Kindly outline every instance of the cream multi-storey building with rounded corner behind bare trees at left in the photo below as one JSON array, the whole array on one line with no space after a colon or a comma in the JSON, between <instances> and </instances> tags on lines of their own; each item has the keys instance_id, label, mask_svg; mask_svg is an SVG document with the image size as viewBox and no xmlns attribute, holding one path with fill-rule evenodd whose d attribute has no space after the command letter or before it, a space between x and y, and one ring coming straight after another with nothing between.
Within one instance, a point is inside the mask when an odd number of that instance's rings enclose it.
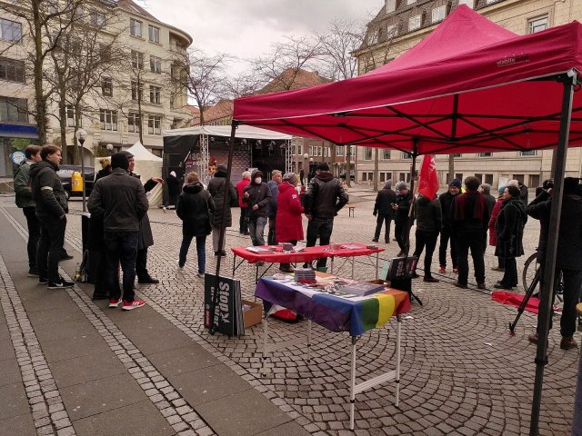
<instances>
[{"instance_id":1,"label":"cream multi-storey building with rounded corner behind bare trees at left","mask_svg":"<svg viewBox=\"0 0 582 436\"><path fill-rule=\"evenodd\" d=\"M0 0L0 7L14 3ZM53 7L58 5L55 2ZM37 144L29 61L34 45L25 20L4 12L0 17L0 176L10 176L13 153L25 144ZM63 146L71 163L78 146L75 129L83 128L87 133L85 164L93 165L95 155L103 154L107 144L114 150L128 148L140 139L141 130L146 148L161 155L162 131L182 127L191 119L186 86L172 80L176 59L185 58L191 36L162 23L131 0L81 2L75 14L79 25L98 26L97 45L103 50L113 50L109 44L115 39L122 59L101 74L100 83L86 94L76 127L75 107L66 105L65 146L60 140L58 98L49 99L47 142ZM74 44L67 38L62 41Z\"/></svg>"}]
</instances>

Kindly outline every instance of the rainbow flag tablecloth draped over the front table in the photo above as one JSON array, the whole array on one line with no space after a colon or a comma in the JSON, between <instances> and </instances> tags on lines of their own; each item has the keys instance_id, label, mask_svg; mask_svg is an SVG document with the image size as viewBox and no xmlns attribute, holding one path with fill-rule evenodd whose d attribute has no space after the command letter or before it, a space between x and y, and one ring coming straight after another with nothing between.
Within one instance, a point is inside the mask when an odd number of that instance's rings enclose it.
<instances>
[{"instance_id":1,"label":"rainbow flag tablecloth draped over the front table","mask_svg":"<svg viewBox=\"0 0 582 436\"><path fill-rule=\"evenodd\" d=\"M344 298L292 280L263 277L256 283L255 295L296 311L331 332L349 332L351 336L381 327L393 315L410 310L408 292L391 288L365 297Z\"/></svg>"}]
</instances>

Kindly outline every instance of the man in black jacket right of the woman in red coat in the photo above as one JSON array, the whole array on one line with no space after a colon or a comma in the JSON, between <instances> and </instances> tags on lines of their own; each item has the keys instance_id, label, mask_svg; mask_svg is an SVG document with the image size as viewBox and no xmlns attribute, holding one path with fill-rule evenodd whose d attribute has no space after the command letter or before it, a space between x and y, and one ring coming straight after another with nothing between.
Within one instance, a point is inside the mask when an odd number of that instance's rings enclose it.
<instances>
[{"instance_id":1,"label":"man in black jacket right of the woman in red coat","mask_svg":"<svg viewBox=\"0 0 582 436\"><path fill-rule=\"evenodd\" d=\"M339 180L329 173L327 163L319 163L316 176L309 183L304 197L307 224L307 246L316 245L319 236L320 245L328 245L334 230L334 217L349 201L346 191ZM325 268L326 259L317 260L317 268Z\"/></svg>"}]
</instances>

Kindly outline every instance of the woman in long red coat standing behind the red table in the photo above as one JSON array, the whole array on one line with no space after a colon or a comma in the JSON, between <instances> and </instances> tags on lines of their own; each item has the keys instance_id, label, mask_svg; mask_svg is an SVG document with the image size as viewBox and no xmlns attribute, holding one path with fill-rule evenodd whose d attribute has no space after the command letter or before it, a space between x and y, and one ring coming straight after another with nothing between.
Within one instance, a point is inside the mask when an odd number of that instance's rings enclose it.
<instances>
[{"instance_id":1,"label":"woman in long red coat standing behind the red table","mask_svg":"<svg viewBox=\"0 0 582 436\"><path fill-rule=\"evenodd\" d=\"M283 182L279 184L279 194L276 197L276 241L293 243L304 239L303 236L303 206L296 190L296 173L286 173ZM289 263L281 263L282 272L293 272Z\"/></svg>"}]
</instances>

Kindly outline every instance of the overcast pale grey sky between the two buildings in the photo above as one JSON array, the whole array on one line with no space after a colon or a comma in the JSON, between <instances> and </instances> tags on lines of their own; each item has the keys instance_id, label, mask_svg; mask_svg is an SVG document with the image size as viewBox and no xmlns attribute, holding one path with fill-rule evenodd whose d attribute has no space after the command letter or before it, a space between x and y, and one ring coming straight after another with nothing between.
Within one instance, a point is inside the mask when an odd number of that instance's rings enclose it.
<instances>
[{"instance_id":1,"label":"overcast pale grey sky between the two buildings","mask_svg":"<svg viewBox=\"0 0 582 436\"><path fill-rule=\"evenodd\" d=\"M324 31L335 18L369 21L384 0L135 0L185 30L208 54L258 57L286 35Z\"/></svg>"}]
</instances>

